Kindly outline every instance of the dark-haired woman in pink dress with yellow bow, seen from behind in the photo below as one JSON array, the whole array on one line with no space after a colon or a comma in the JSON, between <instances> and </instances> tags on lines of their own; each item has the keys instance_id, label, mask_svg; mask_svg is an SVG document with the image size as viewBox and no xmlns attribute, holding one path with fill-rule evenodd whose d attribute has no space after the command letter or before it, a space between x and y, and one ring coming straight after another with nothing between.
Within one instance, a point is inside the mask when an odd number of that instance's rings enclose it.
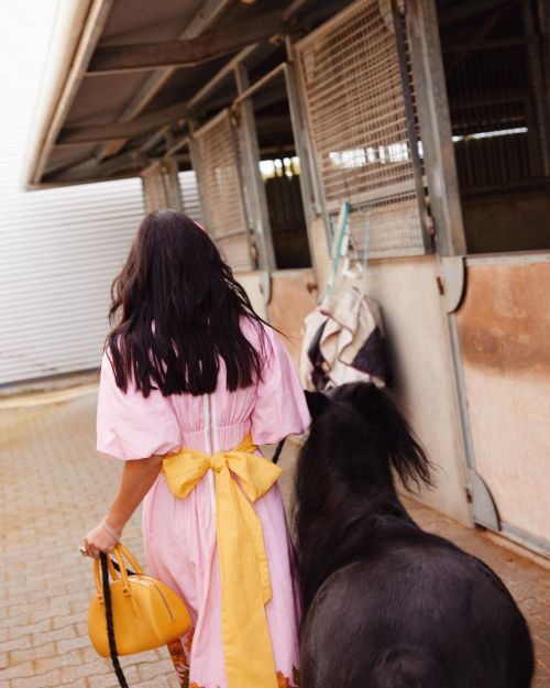
<instances>
[{"instance_id":1,"label":"dark-haired woman in pink dress with yellow bow, seen from behind","mask_svg":"<svg viewBox=\"0 0 550 688\"><path fill-rule=\"evenodd\" d=\"M112 297L119 325L101 365L97 447L125 463L86 553L112 552L144 499L151 575L182 596L194 622L184 679L294 685L298 604L278 469L250 456L309 425L292 360L206 232L178 212L145 217ZM185 489L182 469L198 471ZM246 510L255 536L239 521Z\"/></svg>"}]
</instances>

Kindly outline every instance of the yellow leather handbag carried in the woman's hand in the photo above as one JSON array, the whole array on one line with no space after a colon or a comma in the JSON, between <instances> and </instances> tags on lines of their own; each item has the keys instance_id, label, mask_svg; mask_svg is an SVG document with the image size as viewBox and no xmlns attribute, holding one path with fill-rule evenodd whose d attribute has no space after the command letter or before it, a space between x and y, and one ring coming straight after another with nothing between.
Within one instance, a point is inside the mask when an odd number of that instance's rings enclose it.
<instances>
[{"instance_id":1,"label":"yellow leather handbag carried in the woman's hand","mask_svg":"<svg viewBox=\"0 0 550 688\"><path fill-rule=\"evenodd\" d=\"M145 576L121 543L114 547L114 556L120 574L110 557L101 557L102 576L99 560L94 561L97 594L88 610L88 633L98 654L111 658L113 654L132 655L166 645L186 633L191 620L184 601L174 590ZM134 569L131 575L124 558ZM114 641L111 643L108 626Z\"/></svg>"}]
</instances>

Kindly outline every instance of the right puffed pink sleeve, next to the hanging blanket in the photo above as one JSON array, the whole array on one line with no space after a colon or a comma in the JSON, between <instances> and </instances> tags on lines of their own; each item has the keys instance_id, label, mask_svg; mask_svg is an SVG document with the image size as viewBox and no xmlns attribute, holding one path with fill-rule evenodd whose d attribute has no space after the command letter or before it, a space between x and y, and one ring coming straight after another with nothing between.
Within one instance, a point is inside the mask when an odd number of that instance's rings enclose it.
<instances>
[{"instance_id":1,"label":"right puffed pink sleeve, next to the hanging blanket","mask_svg":"<svg viewBox=\"0 0 550 688\"><path fill-rule=\"evenodd\" d=\"M278 336L265 329L265 363L256 387L252 412L252 439L255 445L278 443L288 435L301 435L311 418L290 354Z\"/></svg>"}]
</instances>

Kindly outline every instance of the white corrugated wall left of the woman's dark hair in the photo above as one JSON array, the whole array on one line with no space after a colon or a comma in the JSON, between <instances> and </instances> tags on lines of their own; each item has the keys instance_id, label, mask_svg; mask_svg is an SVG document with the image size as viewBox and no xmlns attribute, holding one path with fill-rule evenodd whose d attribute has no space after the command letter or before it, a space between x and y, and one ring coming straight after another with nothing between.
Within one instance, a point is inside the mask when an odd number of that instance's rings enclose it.
<instances>
[{"instance_id":1,"label":"white corrugated wall left of the woman's dark hair","mask_svg":"<svg viewBox=\"0 0 550 688\"><path fill-rule=\"evenodd\" d=\"M0 212L0 384L99 364L140 179L14 194Z\"/></svg>"}]
</instances>

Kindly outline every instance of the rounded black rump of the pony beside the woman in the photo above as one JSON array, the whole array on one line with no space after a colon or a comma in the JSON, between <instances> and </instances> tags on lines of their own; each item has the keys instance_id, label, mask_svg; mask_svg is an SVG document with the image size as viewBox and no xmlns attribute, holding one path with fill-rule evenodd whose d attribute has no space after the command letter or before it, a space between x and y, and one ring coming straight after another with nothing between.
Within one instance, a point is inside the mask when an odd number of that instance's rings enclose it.
<instances>
[{"instance_id":1,"label":"rounded black rump of the pony beside the woman","mask_svg":"<svg viewBox=\"0 0 550 688\"><path fill-rule=\"evenodd\" d=\"M304 688L528 688L527 624L498 577L406 528L319 589L301 634Z\"/></svg>"}]
</instances>

